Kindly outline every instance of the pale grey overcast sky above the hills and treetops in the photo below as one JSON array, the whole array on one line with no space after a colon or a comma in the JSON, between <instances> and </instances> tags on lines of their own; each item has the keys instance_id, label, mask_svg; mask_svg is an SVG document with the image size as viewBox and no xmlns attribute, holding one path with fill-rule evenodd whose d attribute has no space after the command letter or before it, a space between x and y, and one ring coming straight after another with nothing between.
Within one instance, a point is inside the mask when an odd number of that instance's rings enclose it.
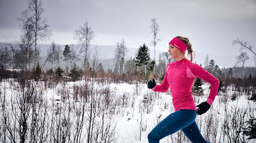
<instances>
[{"instance_id":1,"label":"pale grey overcast sky above the hills and treetops","mask_svg":"<svg viewBox=\"0 0 256 143\"><path fill-rule=\"evenodd\" d=\"M170 40L188 37L196 53L238 55L236 38L256 51L256 0L42 0L53 35L48 41L76 44L74 31L88 20L95 32L92 44L115 45L125 39L128 47L149 46L153 39L150 19L160 26L156 46L167 51ZM0 0L0 42L19 40L16 17L27 8L27 0ZM153 49L153 46L149 46ZM253 61L252 52L247 51ZM253 65L252 65L253 66Z\"/></svg>"}]
</instances>

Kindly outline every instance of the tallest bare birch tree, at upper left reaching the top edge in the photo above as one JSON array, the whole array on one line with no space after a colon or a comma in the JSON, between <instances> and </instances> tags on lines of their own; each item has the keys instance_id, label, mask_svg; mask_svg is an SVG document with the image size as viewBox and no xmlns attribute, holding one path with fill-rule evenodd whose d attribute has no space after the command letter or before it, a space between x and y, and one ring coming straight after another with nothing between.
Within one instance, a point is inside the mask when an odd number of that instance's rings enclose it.
<instances>
[{"instance_id":1,"label":"tallest bare birch tree, at upper left reaching the top edge","mask_svg":"<svg viewBox=\"0 0 256 143\"><path fill-rule=\"evenodd\" d=\"M47 19L42 18L42 14L44 12L42 5L41 0L29 0L28 8L22 12L22 16L20 18L16 18L21 27L27 25L32 32L32 37L35 41L34 67L36 67L38 60L37 42L49 39L52 34L51 30L49 30L50 26L47 24Z\"/></svg>"}]
</instances>

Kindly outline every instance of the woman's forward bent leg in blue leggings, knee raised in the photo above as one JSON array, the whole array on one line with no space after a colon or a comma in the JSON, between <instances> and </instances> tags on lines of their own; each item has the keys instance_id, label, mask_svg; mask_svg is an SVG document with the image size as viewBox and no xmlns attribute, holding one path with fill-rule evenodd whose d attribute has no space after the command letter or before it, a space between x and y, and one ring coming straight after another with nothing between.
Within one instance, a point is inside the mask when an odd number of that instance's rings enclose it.
<instances>
[{"instance_id":1,"label":"woman's forward bent leg in blue leggings, knee raised","mask_svg":"<svg viewBox=\"0 0 256 143\"><path fill-rule=\"evenodd\" d=\"M149 143L159 143L164 137L192 124L195 118L196 111L187 109L181 109L168 115L148 134Z\"/></svg>"}]
</instances>

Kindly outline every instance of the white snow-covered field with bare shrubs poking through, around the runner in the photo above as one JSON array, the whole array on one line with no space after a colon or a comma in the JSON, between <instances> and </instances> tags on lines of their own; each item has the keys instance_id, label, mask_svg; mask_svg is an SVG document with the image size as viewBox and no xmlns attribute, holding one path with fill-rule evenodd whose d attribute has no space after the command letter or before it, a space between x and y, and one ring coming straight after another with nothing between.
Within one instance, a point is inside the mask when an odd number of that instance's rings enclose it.
<instances>
[{"instance_id":1,"label":"white snow-covered field with bare shrubs poking through, around the runner","mask_svg":"<svg viewBox=\"0 0 256 143\"><path fill-rule=\"evenodd\" d=\"M45 99L47 101L48 108L45 108L49 110L47 112L48 114L48 123L47 127L45 128L46 130L49 130L49 135L48 136L54 136L55 134L53 131L51 131L52 128L57 128L56 124L54 123L50 127L50 122L55 119L59 119L61 121L65 116L67 115L67 110L63 110L64 108L67 108L67 103L72 102L75 100L74 95L75 95L75 85L79 86L81 85L84 86L84 81L78 81L78 82L68 82L68 83L58 83L55 84L51 87L45 86L44 82L39 82L36 85L36 91L37 93L42 93L42 99ZM147 84L102 84L100 82L94 82L92 86L92 82L88 82L88 89L93 89L89 90L92 92L88 92L88 103L90 103L91 97L95 97L96 104L104 104L107 103L105 94L106 93L104 90L108 89L110 92L110 98L108 99L110 102L110 105L115 105L114 109L113 108L108 108L108 109L100 109L99 106L95 106L95 109L97 108L95 114L95 127L93 134L97 133L99 129L105 129L107 127L101 127L99 126L100 124L104 123L112 123L111 126L115 126L114 128L114 138L117 143L147 143L147 135L148 133L161 121L163 120L166 116L174 112L173 109L173 104L172 104L172 96L169 91L166 93L159 93L159 92L154 92L150 89L147 88ZM93 88L92 88L93 87ZM0 85L1 88L1 103L3 101L3 95L5 95L5 101L12 110L13 107L10 105L14 103L11 101L11 99L15 99L16 92L23 92L21 88L19 88L18 83L11 83L10 82L2 82ZM204 83L202 88L204 89L204 95L205 96L194 96L194 100L196 102L196 105L199 103L206 101L207 96L209 95L209 83ZM3 92L5 91L5 92ZM25 88L25 91L27 89ZM64 92L65 91L65 92ZM5 93L5 94L4 94ZM90 95L91 93L91 95ZM239 113L246 113L245 116L243 117L244 121L248 120L250 116L256 116L255 109L256 105L255 102L247 100L245 95L238 96L236 100L232 101L231 100L231 95L234 93L234 91L228 88L225 93L221 93L218 95L214 102L213 105L211 106L210 110L199 116L197 115L196 121L198 124L198 127L203 135L208 141L210 142L216 142L216 143L229 143L232 142L227 138L227 134L232 136L233 132L235 132L235 129L237 129L238 125L233 125L232 121L235 120L241 120L239 118ZM92 96L93 95L93 96ZM104 97L104 98L103 98ZM67 99L69 99L67 101ZM81 103L80 98L78 97L77 102L75 104ZM95 105L96 105L95 104ZM79 104L82 105L82 104ZM92 105L92 104L89 104ZM87 106L86 107L90 107ZM105 104L106 107L106 104ZM85 113L87 112L88 108L85 109ZM39 108L38 108L39 109ZM58 110L61 109L61 110ZM108 112L109 110L109 112ZM232 112L234 110L234 112ZM53 112L54 111L54 112ZM103 112L97 112L97 111L103 111ZM58 112L58 113L56 113ZM12 112L8 112L10 114L10 117L15 117L12 115ZM52 114L51 114L52 113ZM95 112L94 112L95 113ZM112 116L108 115L110 120L101 120L101 117L105 113L110 114L112 113ZM3 114L3 112L1 112ZM70 113L70 123L75 123L78 121L79 117L75 117L75 114ZM31 114L30 114L31 115ZM57 117L59 115L59 117ZM74 115L74 117L72 117ZM227 115L230 115L227 117ZM1 115L2 116L2 115ZM56 117L55 117L56 116ZM86 123L87 119L89 117L89 114L85 114L84 118L86 120L84 121L84 125L82 128L82 132L80 132L83 136L81 139L81 142L85 142L87 139L87 131L88 131L88 123ZM235 118L235 119L234 119ZM237 118L237 119L236 119ZM3 118L1 118L3 119ZM11 119L11 118L9 118ZM52 120L51 120L52 119ZM181 119L182 120L182 119ZM15 120L13 120L15 121ZM56 120L55 120L56 121ZM12 122L15 123L15 122ZM31 123L31 122L29 122ZM240 122L237 122L239 124ZM17 123L18 124L18 123ZM228 126L225 126L228 125ZM74 130L75 130L75 124L70 124L69 128L69 133L72 138L74 138ZM1 124L1 129L3 129L3 124ZM13 124L13 126L16 126ZM233 127L236 126L236 127ZM65 126L66 127L66 126ZM228 129L225 129L225 128ZM51 128L51 129L50 129ZM91 129L91 128L90 128ZM28 128L28 131L31 129ZM8 131L6 131L8 134ZM226 132L226 135L224 135ZM2 134L1 134L2 135ZM29 133L27 134L29 137ZM113 134L112 134L113 135ZM49 137L46 137L47 140L49 141ZM93 137L95 138L95 137ZM107 137L106 137L107 138ZM242 135L240 133L239 138L244 138L247 139L248 137ZM19 137L16 137L18 140ZM29 138L28 138L29 139ZM98 140L97 140L98 141ZM97 142L97 141L92 141L92 142ZM102 141L104 142L104 141ZM111 142L111 141L110 141ZM172 134L160 141L161 143L189 143L187 138L184 136L184 134L181 131L178 131L175 134ZM247 141L246 141L247 142ZM248 141L248 143L255 143L256 140L252 139Z\"/></svg>"}]
</instances>

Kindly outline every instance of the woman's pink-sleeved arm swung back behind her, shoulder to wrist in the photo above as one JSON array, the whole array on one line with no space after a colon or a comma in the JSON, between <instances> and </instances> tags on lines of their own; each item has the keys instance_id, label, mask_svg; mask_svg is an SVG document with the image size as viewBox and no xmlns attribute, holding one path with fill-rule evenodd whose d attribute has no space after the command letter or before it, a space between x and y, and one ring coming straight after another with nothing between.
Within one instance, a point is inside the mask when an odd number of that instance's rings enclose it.
<instances>
[{"instance_id":1,"label":"woman's pink-sleeved arm swung back behind her, shoulder to wrist","mask_svg":"<svg viewBox=\"0 0 256 143\"><path fill-rule=\"evenodd\" d=\"M197 64L194 64L193 67L191 67L191 72L195 75L195 77L199 77L202 80L211 84L210 94L209 94L206 102L209 105L212 105L212 103L217 95L218 88L220 85L219 80Z\"/></svg>"}]
</instances>

